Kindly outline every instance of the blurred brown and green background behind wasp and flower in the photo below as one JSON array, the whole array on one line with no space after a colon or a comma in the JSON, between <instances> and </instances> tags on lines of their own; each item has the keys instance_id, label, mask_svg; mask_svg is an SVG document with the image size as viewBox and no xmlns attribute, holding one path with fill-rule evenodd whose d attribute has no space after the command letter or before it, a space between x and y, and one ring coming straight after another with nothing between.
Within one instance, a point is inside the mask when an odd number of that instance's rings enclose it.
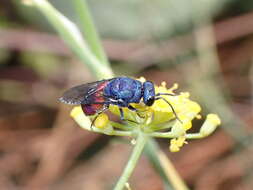
<instances>
[{"instance_id":1,"label":"blurred brown and green background behind wasp and flower","mask_svg":"<svg viewBox=\"0 0 253 190\"><path fill-rule=\"evenodd\" d=\"M50 2L79 24L70 1ZM189 2L88 1L117 75L176 82L203 115L219 113L221 128L178 153L159 141L190 189L251 190L253 1ZM57 100L92 80L35 8L1 1L0 189L112 189L130 146L80 129ZM130 183L166 189L145 156Z\"/></svg>"}]
</instances>

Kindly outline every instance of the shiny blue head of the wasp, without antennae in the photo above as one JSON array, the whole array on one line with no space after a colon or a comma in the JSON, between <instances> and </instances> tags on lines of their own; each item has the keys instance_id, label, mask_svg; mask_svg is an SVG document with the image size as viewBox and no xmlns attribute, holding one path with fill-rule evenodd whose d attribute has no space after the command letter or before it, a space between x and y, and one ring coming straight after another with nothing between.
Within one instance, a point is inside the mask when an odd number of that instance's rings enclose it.
<instances>
[{"instance_id":1,"label":"shiny blue head of the wasp, without antennae","mask_svg":"<svg viewBox=\"0 0 253 190\"><path fill-rule=\"evenodd\" d=\"M155 102L155 87L150 81L143 83L143 102L147 106L152 106Z\"/></svg>"}]
</instances>

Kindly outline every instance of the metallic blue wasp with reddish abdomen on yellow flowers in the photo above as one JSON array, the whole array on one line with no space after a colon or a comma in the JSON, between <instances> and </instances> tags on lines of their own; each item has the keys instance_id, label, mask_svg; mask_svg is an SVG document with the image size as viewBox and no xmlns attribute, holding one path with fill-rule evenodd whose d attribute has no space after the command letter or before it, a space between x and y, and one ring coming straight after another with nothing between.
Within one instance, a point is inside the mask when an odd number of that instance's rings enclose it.
<instances>
[{"instance_id":1,"label":"metallic blue wasp with reddish abdomen on yellow flowers","mask_svg":"<svg viewBox=\"0 0 253 190\"><path fill-rule=\"evenodd\" d=\"M120 111L121 120L124 119L123 109L136 111L131 103L140 103L143 100L146 106L152 106L156 100L162 99L172 109L176 119L180 122L172 105L162 95L175 96L169 93L155 93L154 84L151 81L144 83L129 78L116 77L107 80L82 84L67 90L59 99L61 102L72 105L81 105L85 115L95 115L92 124L99 114L106 111L109 105L117 105Z\"/></svg>"}]
</instances>

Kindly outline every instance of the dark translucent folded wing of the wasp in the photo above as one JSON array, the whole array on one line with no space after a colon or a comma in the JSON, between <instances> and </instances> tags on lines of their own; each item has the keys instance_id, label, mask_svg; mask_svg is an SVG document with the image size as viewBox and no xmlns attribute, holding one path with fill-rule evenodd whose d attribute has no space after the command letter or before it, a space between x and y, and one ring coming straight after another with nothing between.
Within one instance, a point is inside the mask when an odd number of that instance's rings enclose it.
<instances>
[{"instance_id":1,"label":"dark translucent folded wing of the wasp","mask_svg":"<svg viewBox=\"0 0 253 190\"><path fill-rule=\"evenodd\" d=\"M92 83L82 84L70 88L64 92L63 96L59 100L65 104L77 105L85 102L85 100L96 93L98 87L109 80L101 80Z\"/></svg>"}]
</instances>

